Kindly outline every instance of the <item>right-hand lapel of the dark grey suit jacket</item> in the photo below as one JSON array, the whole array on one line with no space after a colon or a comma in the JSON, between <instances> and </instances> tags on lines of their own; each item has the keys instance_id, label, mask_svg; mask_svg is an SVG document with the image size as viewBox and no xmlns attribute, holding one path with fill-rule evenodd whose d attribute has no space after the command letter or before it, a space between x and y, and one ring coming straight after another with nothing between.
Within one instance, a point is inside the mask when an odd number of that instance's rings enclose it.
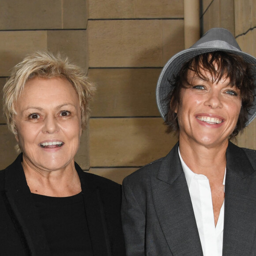
<instances>
[{"instance_id":1,"label":"right-hand lapel of the dark grey suit jacket","mask_svg":"<svg viewBox=\"0 0 256 256\"><path fill-rule=\"evenodd\" d=\"M256 233L256 174L245 152L226 151L223 256L250 255Z\"/></svg>"}]
</instances>

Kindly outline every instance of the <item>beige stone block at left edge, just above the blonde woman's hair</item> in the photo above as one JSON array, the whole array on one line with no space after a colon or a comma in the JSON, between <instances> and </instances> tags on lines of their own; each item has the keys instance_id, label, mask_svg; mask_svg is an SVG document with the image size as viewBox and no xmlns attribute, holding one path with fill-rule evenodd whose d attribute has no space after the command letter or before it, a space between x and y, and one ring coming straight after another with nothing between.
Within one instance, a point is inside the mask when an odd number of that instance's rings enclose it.
<instances>
[{"instance_id":1,"label":"beige stone block at left edge, just above the blonde woman's hair","mask_svg":"<svg viewBox=\"0 0 256 256\"><path fill-rule=\"evenodd\" d=\"M47 49L46 31L0 31L0 38L0 76L9 76L26 54Z\"/></svg>"}]
</instances>

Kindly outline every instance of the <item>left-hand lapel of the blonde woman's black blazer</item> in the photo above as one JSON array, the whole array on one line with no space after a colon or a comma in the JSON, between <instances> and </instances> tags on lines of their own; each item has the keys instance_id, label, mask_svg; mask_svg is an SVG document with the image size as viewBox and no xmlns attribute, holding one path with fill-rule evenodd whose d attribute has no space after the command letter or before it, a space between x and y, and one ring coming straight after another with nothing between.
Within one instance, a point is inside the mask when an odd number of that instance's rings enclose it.
<instances>
[{"instance_id":1,"label":"left-hand lapel of the blonde woman's black blazer","mask_svg":"<svg viewBox=\"0 0 256 256\"><path fill-rule=\"evenodd\" d=\"M5 204L28 253L33 256L50 256L21 162L22 154L5 169Z\"/></svg>"}]
</instances>

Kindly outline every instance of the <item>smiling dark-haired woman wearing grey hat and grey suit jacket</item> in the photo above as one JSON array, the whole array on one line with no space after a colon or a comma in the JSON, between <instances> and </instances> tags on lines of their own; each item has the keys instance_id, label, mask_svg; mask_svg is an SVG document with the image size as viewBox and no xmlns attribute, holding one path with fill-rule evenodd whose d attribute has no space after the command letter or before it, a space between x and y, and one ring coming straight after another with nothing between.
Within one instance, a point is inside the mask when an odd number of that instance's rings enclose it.
<instances>
[{"instance_id":1,"label":"smiling dark-haired woman wearing grey hat and grey suit jacket","mask_svg":"<svg viewBox=\"0 0 256 256\"><path fill-rule=\"evenodd\" d=\"M124 179L128 256L256 255L256 151L230 142L256 117L255 65L215 28L163 68L158 109L179 142Z\"/></svg>"}]
</instances>

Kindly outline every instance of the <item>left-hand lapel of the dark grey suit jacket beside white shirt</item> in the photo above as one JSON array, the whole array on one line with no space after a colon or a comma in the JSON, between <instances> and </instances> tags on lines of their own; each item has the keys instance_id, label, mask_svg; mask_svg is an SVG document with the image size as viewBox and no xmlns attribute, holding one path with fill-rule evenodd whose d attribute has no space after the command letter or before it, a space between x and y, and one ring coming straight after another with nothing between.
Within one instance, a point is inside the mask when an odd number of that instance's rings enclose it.
<instances>
[{"instance_id":1,"label":"left-hand lapel of the dark grey suit jacket beside white shirt","mask_svg":"<svg viewBox=\"0 0 256 256\"><path fill-rule=\"evenodd\" d=\"M158 177L151 179L155 211L174 256L203 256L178 144L162 160Z\"/></svg>"}]
</instances>

